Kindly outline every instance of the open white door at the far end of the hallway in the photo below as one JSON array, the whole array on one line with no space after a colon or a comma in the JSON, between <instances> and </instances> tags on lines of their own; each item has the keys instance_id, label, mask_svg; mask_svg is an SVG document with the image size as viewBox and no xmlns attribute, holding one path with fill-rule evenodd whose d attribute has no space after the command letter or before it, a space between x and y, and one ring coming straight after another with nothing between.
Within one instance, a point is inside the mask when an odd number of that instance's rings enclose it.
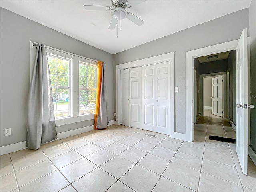
<instances>
[{"instance_id":1,"label":"open white door at the far end of the hallway","mask_svg":"<svg viewBox=\"0 0 256 192\"><path fill-rule=\"evenodd\" d=\"M222 117L222 76L212 78L212 114Z\"/></svg>"}]
</instances>

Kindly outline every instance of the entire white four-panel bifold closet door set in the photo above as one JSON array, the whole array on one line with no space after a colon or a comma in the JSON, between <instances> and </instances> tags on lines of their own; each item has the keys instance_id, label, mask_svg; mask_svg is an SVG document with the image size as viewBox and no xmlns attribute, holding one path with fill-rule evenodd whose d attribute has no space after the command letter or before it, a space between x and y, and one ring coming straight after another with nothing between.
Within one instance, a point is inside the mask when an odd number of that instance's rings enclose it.
<instances>
[{"instance_id":1,"label":"entire white four-panel bifold closet door set","mask_svg":"<svg viewBox=\"0 0 256 192\"><path fill-rule=\"evenodd\" d=\"M170 135L170 62L121 71L121 124Z\"/></svg>"}]
</instances>

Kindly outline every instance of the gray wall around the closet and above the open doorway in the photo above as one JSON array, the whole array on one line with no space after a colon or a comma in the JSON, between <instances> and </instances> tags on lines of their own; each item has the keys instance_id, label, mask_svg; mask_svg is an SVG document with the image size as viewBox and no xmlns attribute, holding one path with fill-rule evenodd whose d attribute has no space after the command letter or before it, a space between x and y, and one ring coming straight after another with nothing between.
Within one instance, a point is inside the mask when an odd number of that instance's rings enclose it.
<instances>
[{"instance_id":1,"label":"gray wall around the closet and above the open doorway","mask_svg":"<svg viewBox=\"0 0 256 192\"><path fill-rule=\"evenodd\" d=\"M166 23L168 24L168 23ZM249 10L244 9L215 20L182 30L180 32L159 38L157 40L136 46L114 55L115 65L143 58L157 56L169 52L175 54L175 128L176 132L185 133L186 124L186 55L190 50L203 48L240 38L244 28L249 28ZM116 101L116 80L114 78L114 101ZM116 103L114 102L114 112Z\"/></svg>"}]
</instances>

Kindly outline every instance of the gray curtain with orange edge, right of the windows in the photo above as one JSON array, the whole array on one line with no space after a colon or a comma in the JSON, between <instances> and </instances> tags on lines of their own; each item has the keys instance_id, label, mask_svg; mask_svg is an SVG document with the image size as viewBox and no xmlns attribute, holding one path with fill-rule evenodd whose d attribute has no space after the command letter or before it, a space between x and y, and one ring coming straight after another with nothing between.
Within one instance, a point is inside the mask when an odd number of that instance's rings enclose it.
<instances>
[{"instance_id":1,"label":"gray curtain with orange edge, right of the windows","mask_svg":"<svg viewBox=\"0 0 256 192\"><path fill-rule=\"evenodd\" d=\"M101 93L100 93L100 107L97 117L96 128L104 129L108 125L108 112L107 112L107 98L106 98L106 87L105 87L105 65L102 69L102 81L101 81Z\"/></svg>"}]
</instances>

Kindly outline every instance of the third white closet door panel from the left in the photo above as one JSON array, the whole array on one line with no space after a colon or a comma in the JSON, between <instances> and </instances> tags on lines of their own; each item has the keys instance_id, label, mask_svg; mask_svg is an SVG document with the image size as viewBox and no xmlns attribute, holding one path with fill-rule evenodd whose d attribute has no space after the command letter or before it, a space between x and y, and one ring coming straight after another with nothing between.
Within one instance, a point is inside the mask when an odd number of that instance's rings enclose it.
<instances>
[{"instance_id":1,"label":"third white closet door panel from the left","mask_svg":"<svg viewBox=\"0 0 256 192\"><path fill-rule=\"evenodd\" d=\"M155 132L156 66L142 67L142 129Z\"/></svg>"}]
</instances>

